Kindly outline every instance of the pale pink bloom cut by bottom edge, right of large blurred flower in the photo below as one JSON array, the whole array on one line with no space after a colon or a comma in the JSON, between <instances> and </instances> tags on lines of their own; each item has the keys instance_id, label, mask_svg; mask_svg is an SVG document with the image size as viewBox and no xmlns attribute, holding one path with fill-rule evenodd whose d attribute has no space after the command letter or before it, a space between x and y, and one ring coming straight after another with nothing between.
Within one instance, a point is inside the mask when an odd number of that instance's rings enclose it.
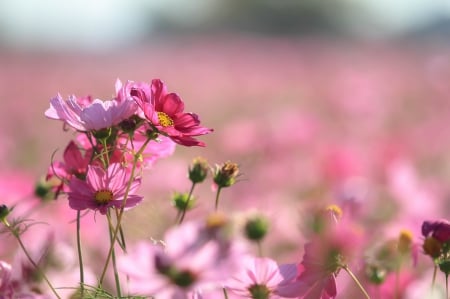
<instances>
[{"instance_id":1,"label":"pale pink bloom cut by bottom edge, right of large blurred flower","mask_svg":"<svg viewBox=\"0 0 450 299\"><path fill-rule=\"evenodd\" d=\"M285 298L279 290L289 288L297 276L297 265L278 266L269 258L248 256L241 265L240 271L225 284L227 290L240 298Z\"/></svg>"}]
</instances>

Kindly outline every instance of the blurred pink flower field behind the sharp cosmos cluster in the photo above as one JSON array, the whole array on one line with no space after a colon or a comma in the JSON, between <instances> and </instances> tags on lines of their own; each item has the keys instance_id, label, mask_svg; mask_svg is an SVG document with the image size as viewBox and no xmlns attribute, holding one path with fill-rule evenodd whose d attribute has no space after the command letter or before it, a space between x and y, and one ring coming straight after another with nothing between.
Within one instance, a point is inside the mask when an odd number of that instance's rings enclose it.
<instances>
[{"instance_id":1,"label":"blurred pink flower field behind the sharp cosmos cluster","mask_svg":"<svg viewBox=\"0 0 450 299\"><path fill-rule=\"evenodd\" d=\"M445 298L439 297L445 296L441 273L437 297L426 297L433 262L423 252L428 236L421 228L424 221L450 215L449 45L198 37L156 39L107 55L5 51L0 65L0 204L16 206L11 217L23 213L38 222L23 234L36 259L49 253L64 257L47 265L55 285L78 282L76 213L65 198L42 203L35 191L74 133L45 118L49 100L57 93L111 99L117 78L160 78L181 96L185 110L214 132L201 137L206 147L177 146L172 156L144 171L139 191L144 200L124 216L129 246L162 239L174 225L171 198L189 191L187 171L194 158L212 166L232 161L239 176L222 191L220 211L238 232L255 215L267 219L260 244L264 256L300 264L312 247L305 243L323 220L318 215L336 207L357 234L339 232L339 246L352 249L352 271L371 298ZM185 221L212 212L215 192L210 179L199 185ZM86 277L94 284L101 268L96 263L101 265L109 247L102 220L99 213L82 218L91 265ZM23 259L14 238L0 238L0 260L14 265ZM392 246L401 248L401 242L408 254L398 257ZM249 251L258 255L253 245ZM385 276L374 279L374 269ZM21 271L14 275L26 272ZM343 272L337 275L336 298L363 298ZM106 279L114 286L112 276ZM42 282L36 285L46 290Z\"/></svg>"}]
</instances>

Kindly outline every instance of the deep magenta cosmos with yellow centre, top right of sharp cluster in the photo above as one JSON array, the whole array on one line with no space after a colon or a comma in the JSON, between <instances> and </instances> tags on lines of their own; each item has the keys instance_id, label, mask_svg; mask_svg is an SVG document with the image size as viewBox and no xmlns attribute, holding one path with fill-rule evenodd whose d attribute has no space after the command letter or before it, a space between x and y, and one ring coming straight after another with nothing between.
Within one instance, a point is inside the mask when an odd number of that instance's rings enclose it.
<instances>
[{"instance_id":1,"label":"deep magenta cosmos with yellow centre, top right of sharp cluster","mask_svg":"<svg viewBox=\"0 0 450 299\"><path fill-rule=\"evenodd\" d=\"M184 102L176 93L168 93L166 85L159 79L154 79L151 86L142 83L129 82L130 90L145 118L162 134L185 146L205 146L195 136L205 135L212 129L202 127L195 113L184 112Z\"/></svg>"}]
</instances>

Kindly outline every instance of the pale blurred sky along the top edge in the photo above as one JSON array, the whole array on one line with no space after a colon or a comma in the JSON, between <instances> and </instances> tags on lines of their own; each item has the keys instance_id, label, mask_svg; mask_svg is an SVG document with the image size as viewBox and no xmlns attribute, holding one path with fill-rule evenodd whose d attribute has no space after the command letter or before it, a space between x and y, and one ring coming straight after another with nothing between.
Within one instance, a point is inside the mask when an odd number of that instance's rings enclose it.
<instances>
[{"instance_id":1,"label":"pale blurred sky along the top edge","mask_svg":"<svg viewBox=\"0 0 450 299\"><path fill-rule=\"evenodd\" d=\"M109 49L151 34L159 13L189 23L225 0L3 0L3 46L44 49ZM274 0L276 1L276 0ZM450 16L447 0L341 0L363 6L348 20L350 31L377 37L401 33Z\"/></svg>"}]
</instances>

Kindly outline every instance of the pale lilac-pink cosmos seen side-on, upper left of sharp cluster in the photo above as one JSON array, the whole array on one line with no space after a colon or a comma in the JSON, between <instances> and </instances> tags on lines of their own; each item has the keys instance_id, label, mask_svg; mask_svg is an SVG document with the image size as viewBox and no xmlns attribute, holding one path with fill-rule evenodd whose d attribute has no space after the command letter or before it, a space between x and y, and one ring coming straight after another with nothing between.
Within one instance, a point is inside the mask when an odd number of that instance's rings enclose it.
<instances>
[{"instance_id":1,"label":"pale lilac-pink cosmos seen side-on, upper left of sharp cluster","mask_svg":"<svg viewBox=\"0 0 450 299\"><path fill-rule=\"evenodd\" d=\"M117 125L135 114L136 110L137 105L132 99L95 99L91 103L80 103L75 96L64 100L58 94L50 100L50 108L45 111L45 116L62 120L78 131L92 131Z\"/></svg>"}]
</instances>

